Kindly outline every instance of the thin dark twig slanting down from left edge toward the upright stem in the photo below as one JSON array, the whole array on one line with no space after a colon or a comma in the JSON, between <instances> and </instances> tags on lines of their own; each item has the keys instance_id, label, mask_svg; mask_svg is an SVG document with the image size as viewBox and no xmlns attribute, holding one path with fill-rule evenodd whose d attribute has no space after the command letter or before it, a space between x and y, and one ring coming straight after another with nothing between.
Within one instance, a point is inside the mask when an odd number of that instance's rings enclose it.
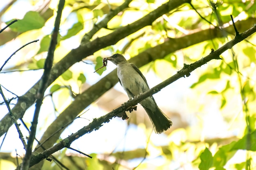
<instances>
[{"instance_id":1,"label":"thin dark twig slanting down from left edge toward the upright stem","mask_svg":"<svg viewBox=\"0 0 256 170\"><path fill-rule=\"evenodd\" d=\"M3 91L2 91L1 85L0 85L0 94L2 95L2 98L4 99L5 105L7 106L7 109L8 109L8 111L9 111L9 116L11 117L11 119L13 120L13 122L14 122L14 124L15 124L15 126L16 126L16 129L17 129L17 131L18 131L18 133L19 133L19 137L20 137L20 140L21 140L21 142L22 142L22 144L23 144L23 146L24 146L24 149L26 149L26 148L27 148L27 144L26 144L25 139L24 139L24 137L23 137L23 135L22 135L22 133L21 133L21 131L20 131L20 125L19 125L18 122L16 121L16 118L14 117L14 115L13 115L13 113L12 113L12 111L11 111L10 105L9 105L9 103L10 103L11 101L7 101L7 100L6 100L6 98L5 98L5 96L4 96L4 93L3 93Z\"/></svg>"}]
</instances>

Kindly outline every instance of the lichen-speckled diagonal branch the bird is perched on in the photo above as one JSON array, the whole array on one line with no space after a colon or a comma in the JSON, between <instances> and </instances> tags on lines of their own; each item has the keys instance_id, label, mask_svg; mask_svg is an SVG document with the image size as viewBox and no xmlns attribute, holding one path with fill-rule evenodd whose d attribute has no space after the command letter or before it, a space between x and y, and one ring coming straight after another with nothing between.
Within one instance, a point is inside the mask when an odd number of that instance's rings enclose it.
<instances>
[{"instance_id":1,"label":"lichen-speckled diagonal branch the bird is perched on","mask_svg":"<svg viewBox=\"0 0 256 170\"><path fill-rule=\"evenodd\" d=\"M43 151L42 153L33 156L33 161L31 161L30 166L33 166L34 164L40 162L41 160L47 158L49 155L55 153L58 150L61 150L62 148L69 147L74 140L78 139L82 135L86 133L90 133L92 131L98 130L101 126L103 126L103 123L109 122L112 118L115 118L120 113L123 113L126 111L129 107L136 105L137 103L141 102L141 100L144 100L145 98L152 96L153 94L159 92L162 88L166 87L167 85L173 83L177 79L185 76L189 76L190 73L195 70L196 68L204 65L205 63L211 61L212 59L220 59L219 55L222 54L225 50L228 50L229 48L232 48L235 44L238 42L244 40L245 38L249 37L253 33L256 32L256 25L254 25L249 30L245 31L244 33L236 36L234 39L229 41L227 44L222 46L216 51L211 52L206 57L203 57L199 61L196 61L195 63L192 63L190 65L184 65L184 68L177 72L177 74L173 75L172 77L168 78L166 81L156 85L152 89L149 89L147 92L141 94L138 98L134 98L128 102L126 102L125 105L121 105L121 107L111 111L110 113L106 114L105 116L101 116L100 118L94 119L88 126L83 127L76 133L73 133L69 137L63 139L58 144L52 146L51 148Z\"/></svg>"}]
</instances>

